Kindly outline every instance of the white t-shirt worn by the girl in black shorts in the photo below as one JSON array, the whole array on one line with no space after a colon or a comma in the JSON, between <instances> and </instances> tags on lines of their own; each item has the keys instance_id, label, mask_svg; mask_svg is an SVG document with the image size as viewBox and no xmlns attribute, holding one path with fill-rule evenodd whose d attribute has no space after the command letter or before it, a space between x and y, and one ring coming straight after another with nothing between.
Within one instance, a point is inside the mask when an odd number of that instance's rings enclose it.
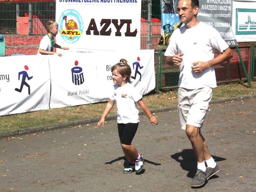
<instances>
[{"instance_id":1,"label":"white t-shirt worn by the girl in black shorts","mask_svg":"<svg viewBox=\"0 0 256 192\"><path fill-rule=\"evenodd\" d=\"M117 122L118 123L138 123L137 101L142 98L142 95L130 83L124 86L113 86L110 100L114 100L117 105Z\"/></svg>"}]
</instances>

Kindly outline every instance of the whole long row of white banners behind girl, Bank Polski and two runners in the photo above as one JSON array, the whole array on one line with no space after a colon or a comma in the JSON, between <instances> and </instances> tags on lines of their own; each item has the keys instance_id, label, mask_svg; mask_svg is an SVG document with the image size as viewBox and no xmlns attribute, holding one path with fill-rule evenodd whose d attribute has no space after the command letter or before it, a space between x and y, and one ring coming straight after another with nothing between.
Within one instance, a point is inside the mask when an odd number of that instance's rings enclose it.
<instances>
[{"instance_id":1,"label":"whole long row of white banners behind girl, Bank Polski and two runners","mask_svg":"<svg viewBox=\"0 0 256 192\"><path fill-rule=\"evenodd\" d=\"M142 95L155 89L154 50L0 57L0 116L106 101L121 58Z\"/></svg>"}]
</instances>

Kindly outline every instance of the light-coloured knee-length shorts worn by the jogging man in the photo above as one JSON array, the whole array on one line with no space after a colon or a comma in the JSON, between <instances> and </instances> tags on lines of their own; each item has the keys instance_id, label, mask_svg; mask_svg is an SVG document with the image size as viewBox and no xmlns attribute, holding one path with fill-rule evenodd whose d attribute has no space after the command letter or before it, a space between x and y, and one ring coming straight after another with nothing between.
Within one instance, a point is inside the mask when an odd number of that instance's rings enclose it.
<instances>
[{"instance_id":1,"label":"light-coloured knee-length shorts worn by the jogging man","mask_svg":"<svg viewBox=\"0 0 256 192\"><path fill-rule=\"evenodd\" d=\"M187 124L202 128L203 121L209 109L211 97L211 87L199 89L179 88L178 111L182 129L185 130Z\"/></svg>"}]
</instances>

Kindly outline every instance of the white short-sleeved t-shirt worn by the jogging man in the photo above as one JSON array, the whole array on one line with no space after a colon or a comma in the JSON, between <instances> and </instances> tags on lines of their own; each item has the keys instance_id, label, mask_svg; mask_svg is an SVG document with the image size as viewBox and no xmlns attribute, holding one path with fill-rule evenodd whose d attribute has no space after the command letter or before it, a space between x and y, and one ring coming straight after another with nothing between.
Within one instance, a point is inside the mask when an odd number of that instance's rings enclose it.
<instances>
[{"instance_id":1,"label":"white short-sleeved t-shirt worn by the jogging man","mask_svg":"<svg viewBox=\"0 0 256 192\"><path fill-rule=\"evenodd\" d=\"M228 47L216 29L200 22L190 29L186 29L185 26L176 29L171 36L165 56L184 53L180 65L179 87L197 89L209 86L214 88L217 86L214 67L209 67L201 73L194 73L191 68L192 63L209 61L214 58L215 50L222 53Z\"/></svg>"}]
</instances>

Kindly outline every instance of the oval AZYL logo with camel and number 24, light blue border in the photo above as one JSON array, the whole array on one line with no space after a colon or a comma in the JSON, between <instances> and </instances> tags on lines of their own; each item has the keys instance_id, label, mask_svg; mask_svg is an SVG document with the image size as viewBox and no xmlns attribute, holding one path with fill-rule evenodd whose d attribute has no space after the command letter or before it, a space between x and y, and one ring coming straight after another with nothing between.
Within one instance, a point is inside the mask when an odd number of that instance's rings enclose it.
<instances>
[{"instance_id":1,"label":"oval AZYL logo with camel and number 24, light blue border","mask_svg":"<svg viewBox=\"0 0 256 192\"><path fill-rule=\"evenodd\" d=\"M77 42L83 31L82 17L74 9L65 10L59 20L59 30L65 42Z\"/></svg>"}]
</instances>

